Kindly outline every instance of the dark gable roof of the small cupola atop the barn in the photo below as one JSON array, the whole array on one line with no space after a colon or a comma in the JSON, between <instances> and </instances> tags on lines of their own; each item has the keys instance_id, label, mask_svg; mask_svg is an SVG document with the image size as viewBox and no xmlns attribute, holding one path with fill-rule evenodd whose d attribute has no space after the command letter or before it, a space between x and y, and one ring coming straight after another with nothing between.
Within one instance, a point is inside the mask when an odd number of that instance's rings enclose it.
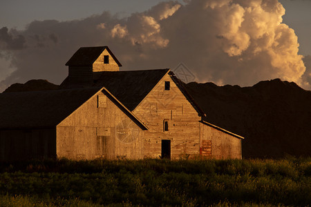
<instances>
[{"instance_id":1,"label":"dark gable roof of the small cupola atop the barn","mask_svg":"<svg viewBox=\"0 0 311 207\"><path fill-rule=\"evenodd\" d=\"M67 61L66 66L91 66L104 50L109 52L119 67L122 66L108 46L79 48Z\"/></svg>"}]
</instances>

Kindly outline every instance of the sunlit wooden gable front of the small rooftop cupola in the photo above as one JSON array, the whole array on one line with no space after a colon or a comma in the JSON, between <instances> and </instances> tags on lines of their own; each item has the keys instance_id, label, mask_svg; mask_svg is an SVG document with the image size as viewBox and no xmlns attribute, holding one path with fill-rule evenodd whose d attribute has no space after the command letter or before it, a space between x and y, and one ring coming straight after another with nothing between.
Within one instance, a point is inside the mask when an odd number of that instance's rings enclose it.
<instances>
[{"instance_id":1,"label":"sunlit wooden gable front of the small rooftop cupola","mask_svg":"<svg viewBox=\"0 0 311 207\"><path fill-rule=\"evenodd\" d=\"M109 56L109 63L104 63L104 56ZM104 50L102 54L96 59L96 61L93 63L93 72L100 72L100 71L119 71L119 66L111 57L109 52L107 50Z\"/></svg>"}]
</instances>

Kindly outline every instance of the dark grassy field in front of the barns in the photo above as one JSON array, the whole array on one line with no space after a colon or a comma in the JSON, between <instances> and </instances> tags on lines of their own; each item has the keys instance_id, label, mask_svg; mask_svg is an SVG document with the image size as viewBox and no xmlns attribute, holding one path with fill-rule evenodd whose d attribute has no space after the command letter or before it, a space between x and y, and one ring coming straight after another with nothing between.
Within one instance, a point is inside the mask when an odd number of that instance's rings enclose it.
<instances>
[{"instance_id":1,"label":"dark grassy field in front of the barns","mask_svg":"<svg viewBox=\"0 0 311 207\"><path fill-rule=\"evenodd\" d=\"M0 164L0 206L308 206L311 158Z\"/></svg>"}]
</instances>

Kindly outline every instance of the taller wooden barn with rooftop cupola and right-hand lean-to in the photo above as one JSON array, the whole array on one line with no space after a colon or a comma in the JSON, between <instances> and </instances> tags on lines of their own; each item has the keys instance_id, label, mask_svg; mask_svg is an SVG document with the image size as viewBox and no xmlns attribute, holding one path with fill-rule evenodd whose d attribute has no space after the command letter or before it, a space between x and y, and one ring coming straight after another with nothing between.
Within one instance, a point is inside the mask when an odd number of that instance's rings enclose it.
<instances>
[{"instance_id":1,"label":"taller wooden barn with rooftop cupola and right-hand lean-to","mask_svg":"<svg viewBox=\"0 0 311 207\"><path fill-rule=\"evenodd\" d=\"M79 48L61 88L105 87L144 123L144 157L241 159L243 137L206 121L170 69L120 71L108 47Z\"/></svg>"}]
</instances>

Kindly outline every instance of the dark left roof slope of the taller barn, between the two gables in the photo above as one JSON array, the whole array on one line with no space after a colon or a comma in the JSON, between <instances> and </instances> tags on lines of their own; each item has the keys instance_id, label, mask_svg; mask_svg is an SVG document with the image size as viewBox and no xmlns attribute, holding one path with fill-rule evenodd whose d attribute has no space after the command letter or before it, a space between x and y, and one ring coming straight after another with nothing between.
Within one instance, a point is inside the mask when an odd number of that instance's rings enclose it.
<instances>
[{"instance_id":1,"label":"dark left roof slope of the taller barn, between the two gables","mask_svg":"<svg viewBox=\"0 0 311 207\"><path fill-rule=\"evenodd\" d=\"M94 86L104 86L133 111L167 72L169 69L104 71Z\"/></svg>"}]
</instances>

